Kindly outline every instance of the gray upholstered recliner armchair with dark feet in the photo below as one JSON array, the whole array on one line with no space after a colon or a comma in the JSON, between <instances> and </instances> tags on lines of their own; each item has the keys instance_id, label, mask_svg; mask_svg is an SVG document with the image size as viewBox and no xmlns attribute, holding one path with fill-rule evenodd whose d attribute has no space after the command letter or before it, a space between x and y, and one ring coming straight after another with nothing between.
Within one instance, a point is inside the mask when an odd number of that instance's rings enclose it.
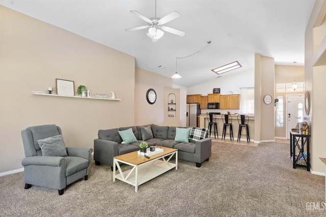
<instances>
[{"instance_id":1,"label":"gray upholstered recliner armchair with dark feet","mask_svg":"<svg viewBox=\"0 0 326 217\"><path fill-rule=\"evenodd\" d=\"M60 135L62 135L61 128L56 125L34 126L21 131L26 157L21 162L24 167L25 189L37 185L58 189L59 195L63 195L68 184L83 177L85 180L88 179L91 172L93 149L88 147L65 147ZM62 139L63 145L60 145L63 146L63 151L66 151L61 156L65 157L57 157L57 152L55 151L53 154L51 150L52 147L57 147L56 141L53 142L51 139L58 137ZM47 141L46 139L49 138L50 141ZM48 144L43 146L44 143L41 143L41 150L39 142L44 139ZM49 152L49 150L52 152Z\"/></svg>"}]
</instances>

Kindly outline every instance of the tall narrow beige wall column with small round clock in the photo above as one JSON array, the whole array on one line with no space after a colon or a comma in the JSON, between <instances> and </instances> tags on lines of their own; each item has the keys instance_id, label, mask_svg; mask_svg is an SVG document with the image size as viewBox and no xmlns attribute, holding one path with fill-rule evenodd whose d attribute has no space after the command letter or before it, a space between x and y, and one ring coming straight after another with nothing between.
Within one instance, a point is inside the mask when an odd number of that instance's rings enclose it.
<instances>
[{"instance_id":1,"label":"tall narrow beige wall column with small round clock","mask_svg":"<svg viewBox=\"0 0 326 217\"><path fill-rule=\"evenodd\" d=\"M255 142L274 141L274 58L255 54ZM273 102L266 105L263 97Z\"/></svg>"}]
</instances>

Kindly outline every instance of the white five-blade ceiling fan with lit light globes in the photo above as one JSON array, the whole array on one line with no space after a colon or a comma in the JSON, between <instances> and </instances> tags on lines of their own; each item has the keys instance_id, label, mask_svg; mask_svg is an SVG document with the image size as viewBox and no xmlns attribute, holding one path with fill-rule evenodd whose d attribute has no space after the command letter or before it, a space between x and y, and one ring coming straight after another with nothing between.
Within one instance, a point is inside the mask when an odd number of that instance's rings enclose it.
<instances>
[{"instance_id":1,"label":"white five-blade ceiling fan with lit light globes","mask_svg":"<svg viewBox=\"0 0 326 217\"><path fill-rule=\"evenodd\" d=\"M156 17L156 0L155 0L155 16L154 17L147 18L143 14L139 13L138 11L130 11L130 13L145 20L148 23L148 25L127 28L127 29L125 29L125 31L127 31L127 32L149 27L148 33L146 35L152 39L152 42L156 42L158 39L160 39L164 35L164 31L175 34L177 36L181 36L181 37L185 35L184 32L182 32L178 29L171 28L171 27L164 25L165 23L170 22L171 20L179 17L180 16L179 12L173 11L163 18Z\"/></svg>"}]
</instances>

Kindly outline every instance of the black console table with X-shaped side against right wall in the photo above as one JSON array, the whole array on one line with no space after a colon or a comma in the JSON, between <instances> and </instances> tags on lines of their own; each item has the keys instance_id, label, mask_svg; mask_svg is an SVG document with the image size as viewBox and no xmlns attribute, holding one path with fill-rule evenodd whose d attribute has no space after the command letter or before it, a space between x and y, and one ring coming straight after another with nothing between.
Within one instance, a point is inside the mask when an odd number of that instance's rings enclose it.
<instances>
[{"instance_id":1,"label":"black console table with X-shaped side against right wall","mask_svg":"<svg viewBox=\"0 0 326 217\"><path fill-rule=\"evenodd\" d=\"M300 142L301 141L301 142ZM293 169L296 166L307 167L310 171L310 135L302 135L298 132L290 131L290 157L293 164ZM307 150L307 155L304 157L304 150ZM298 153L297 155L295 153Z\"/></svg>"}]
</instances>

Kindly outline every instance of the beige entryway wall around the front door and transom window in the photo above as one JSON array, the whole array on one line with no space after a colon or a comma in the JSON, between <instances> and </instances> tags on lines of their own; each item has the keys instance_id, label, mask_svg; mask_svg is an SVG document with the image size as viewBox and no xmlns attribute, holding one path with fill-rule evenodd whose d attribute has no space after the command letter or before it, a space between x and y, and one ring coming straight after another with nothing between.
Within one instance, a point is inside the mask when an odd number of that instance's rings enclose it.
<instances>
[{"instance_id":1,"label":"beige entryway wall around the front door and transom window","mask_svg":"<svg viewBox=\"0 0 326 217\"><path fill-rule=\"evenodd\" d=\"M283 96L284 104L283 104L283 120L284 127L276 126L276 113L275 113L275 137L278 138L286 138L286 120L287 120L287 112L286 112L286 95L296 95L301 94L304 95L304 91L294 91L294 92L276 92L276 84L278 83L292 83L294 79L294 70L295 70L295 79L296 82L304 82L305 81L305 67L304 66L283 66L283 65L275 65L275 98L278 96ZM276 112L276 111L275 111Z\"/></svg>"}]
</instances>

